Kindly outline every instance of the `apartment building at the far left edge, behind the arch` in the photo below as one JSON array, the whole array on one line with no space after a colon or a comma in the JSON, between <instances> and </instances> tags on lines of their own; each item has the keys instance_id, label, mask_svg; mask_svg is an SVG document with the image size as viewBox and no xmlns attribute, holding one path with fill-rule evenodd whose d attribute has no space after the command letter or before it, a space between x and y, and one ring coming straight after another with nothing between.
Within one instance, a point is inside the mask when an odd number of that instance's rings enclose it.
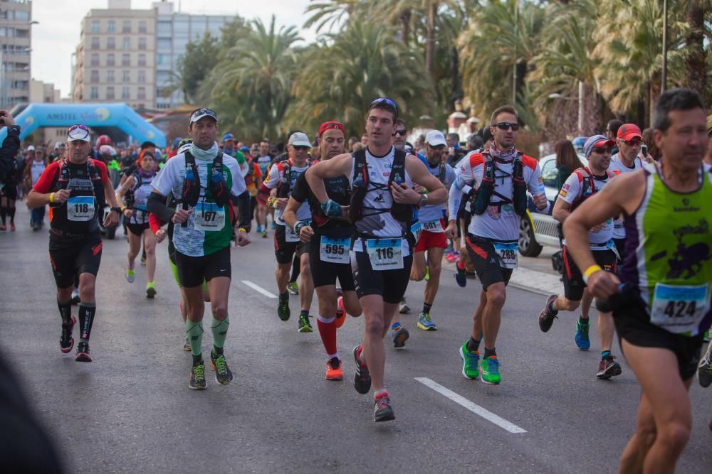
<instances>
[{"instance_id":1,"label":"apartment building at the far left edge, behind the arch","mask_svg":"<svg viewBox=\"0 0 712 474\"><path fill-rule=\"evenodd\" d=\"M30 96L32 2L0 0L0 109Z\"/></svg>"}]
</instances>

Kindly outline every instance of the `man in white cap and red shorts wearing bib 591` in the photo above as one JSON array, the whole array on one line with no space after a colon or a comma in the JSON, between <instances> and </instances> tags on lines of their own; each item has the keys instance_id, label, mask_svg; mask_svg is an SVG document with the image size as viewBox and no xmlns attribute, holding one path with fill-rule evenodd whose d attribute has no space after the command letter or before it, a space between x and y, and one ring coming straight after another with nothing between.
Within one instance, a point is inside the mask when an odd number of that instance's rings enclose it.
<instances>
[{"instance_id":1,"label":"man in white cap and red shorts wearing bib 591","mask_svg":"<svg viewBox=\"0 0 712 474\"><path fill-rule=\"evenodd\" d=\"M445 163L446 146L445 136L441 131L431 130L426 134L425 149L428 170L431 175L438 178L438 181L446 189L449 189L455 181L455 170ZM416 190L420 190L419 186L416 186ZM422 190L422 193L428 193L428 190ZM428 276L425 282L423 311L418 315L418 328L436 330L437 326L430 318L430 309L440 286L440 271L445 248L447 247L443 205L425 205L420 208L418 214L423 230L414 249L410 279L421 281ZM427 259L425 258L425 252L428 252Z\"/></svg>"}]
</instances>

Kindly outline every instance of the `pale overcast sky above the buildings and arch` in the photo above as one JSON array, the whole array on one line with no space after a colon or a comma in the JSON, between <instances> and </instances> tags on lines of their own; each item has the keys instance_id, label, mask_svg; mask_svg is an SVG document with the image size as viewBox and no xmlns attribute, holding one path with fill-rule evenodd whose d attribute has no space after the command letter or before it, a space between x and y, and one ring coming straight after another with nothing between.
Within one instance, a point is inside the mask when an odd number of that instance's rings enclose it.
<instances>
[{"instance_id":1,"label":"pale overcast sky above the buildings and arch","mask_svg":"<svg viewBox=\"0 0 712 474\"><path fill-rule=\"evenodd\" d=\"M131 0L132 9L150 9L153 0ZM278 26L301 28L307 16L309 0L175 0L173 11L189 14L234 15L246 19L260 18L268 23L274 14ZM80 23L90 9L106 9L108 0L33 0L32 77L52 82L62 97L71 92L71 55L79 43ZM300 36L313 41L313 31Z\"/></svg>"}]
</instances>

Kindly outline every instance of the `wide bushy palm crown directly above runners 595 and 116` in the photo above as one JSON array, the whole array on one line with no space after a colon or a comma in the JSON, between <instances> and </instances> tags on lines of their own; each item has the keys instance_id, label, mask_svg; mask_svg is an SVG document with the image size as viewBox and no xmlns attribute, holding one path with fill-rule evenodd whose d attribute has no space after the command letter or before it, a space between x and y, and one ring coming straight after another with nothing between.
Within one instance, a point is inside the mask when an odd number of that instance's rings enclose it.
<instances>
[{"instance_id":1,"label":"wide bushy palm crown directly above runners 595 and 116","mask_svg":"<svg viewBox=\"0 0 712 474\"><path fill-rule=\"evenodd\" d=\"M301 129L339 119L350 134L360 134L375 97L394 99L407 118L430 106L427 81L419 73L422 58L397 41L392 28L352 21L342 33L320 41L306 62L288 114Z\"/></svg>"}]
</instances>

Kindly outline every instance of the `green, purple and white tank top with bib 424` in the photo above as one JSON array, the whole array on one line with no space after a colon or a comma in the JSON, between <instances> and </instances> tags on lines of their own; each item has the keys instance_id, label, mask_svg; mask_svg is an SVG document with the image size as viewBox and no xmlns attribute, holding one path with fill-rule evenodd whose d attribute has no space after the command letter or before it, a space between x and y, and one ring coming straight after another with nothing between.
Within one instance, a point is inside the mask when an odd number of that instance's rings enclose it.
<instances>
[{"instance_id":1,"label":"green, purple and white tank top with bib 424","mask_svg":"<svg viewBox=\"0 0 712 474\"><path fill-rule=\"evenodd\" d=\"M657 169L645 173L642 203L625 221L622 279L637 287L651 323L694 336L712 321L712 174L701 168L699 188L676 193Z\"/></svg>"}]
</instances>

